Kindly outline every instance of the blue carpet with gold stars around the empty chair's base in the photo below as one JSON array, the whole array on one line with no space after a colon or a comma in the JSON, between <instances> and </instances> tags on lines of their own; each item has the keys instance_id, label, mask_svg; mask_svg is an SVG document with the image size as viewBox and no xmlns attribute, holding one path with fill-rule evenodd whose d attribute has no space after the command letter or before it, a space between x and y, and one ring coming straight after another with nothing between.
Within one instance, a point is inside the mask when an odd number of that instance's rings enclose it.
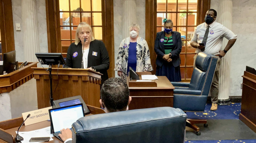
<instances>
[{"instance_id":1,"label":"blue carpet with gold stars around the empty chair's base","mask_svg":"<svg viewBox=\"0 0 256 143\"><path fill-rule=\"evenodd\" d=\"M188 118L192 119L205 119L205 120L225 120L235 119L239 120L241 112L241 103L231 103L230 105L219 106L218 110L210 111L211 104L205 106L203 113L199 112L186 112ZM196 136L196 135L195 135ZM201 135L202 136L202 135ZM199 137L199 136L198 136ZM185 143L256 143L256 140L188 140Z\"/></svg>"}]
</instances>

